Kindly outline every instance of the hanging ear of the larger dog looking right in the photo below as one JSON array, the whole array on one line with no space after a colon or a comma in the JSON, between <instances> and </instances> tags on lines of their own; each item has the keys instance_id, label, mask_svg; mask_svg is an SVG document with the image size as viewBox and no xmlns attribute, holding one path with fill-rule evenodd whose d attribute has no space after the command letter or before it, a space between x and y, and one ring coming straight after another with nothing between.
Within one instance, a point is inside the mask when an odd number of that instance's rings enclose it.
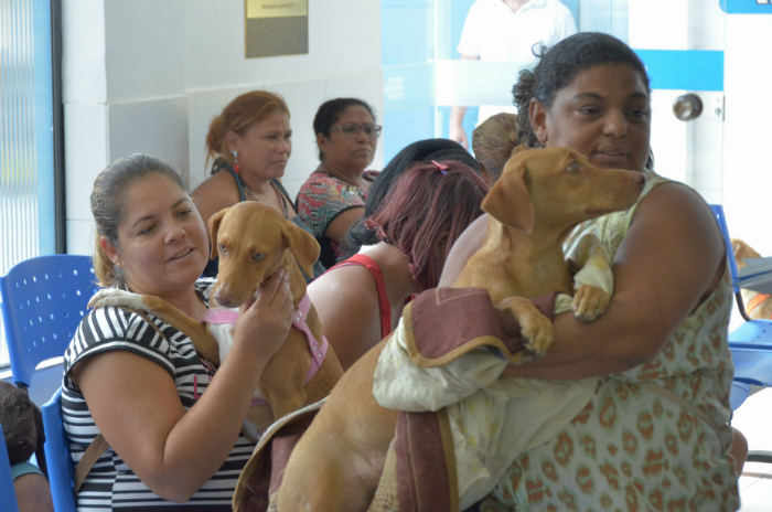
<instances>
[{"instance_id":1,"label":"hanging ear of the larger dog looking right","mask_svg":"<svg viewBox=\"0 0 772 512\"><path fill-rule=\"evenodd\" d=\"M511 158L496 184L485 195L482 209L502 224L530 233L536 225L536 214L525 184L526 173L525 159L519 156Z\"/></svg>"}]
</instances>

